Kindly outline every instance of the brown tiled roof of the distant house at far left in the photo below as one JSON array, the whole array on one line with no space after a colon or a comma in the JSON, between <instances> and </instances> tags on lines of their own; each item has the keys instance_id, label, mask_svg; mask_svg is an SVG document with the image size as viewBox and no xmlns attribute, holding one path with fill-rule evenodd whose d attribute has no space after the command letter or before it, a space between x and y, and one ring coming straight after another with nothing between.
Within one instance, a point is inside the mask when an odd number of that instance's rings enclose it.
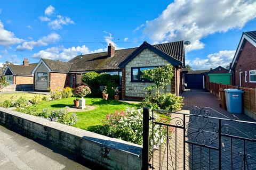
<instances>
[{"instance_id":1,"label":"brown tiled roof of the distant house at far left","mask_svg":"<svg viewBox=\"0 0 256 170\"><path fill-rule=\"evenodd\" d=\"M25 65L8 65L4 72L10 69L13 75L26 75L26 76L32 76L32 70L34 69L34 66L25 66ZM4 74L4 73L3 73Z\"/></svg>"}]
</instances>

